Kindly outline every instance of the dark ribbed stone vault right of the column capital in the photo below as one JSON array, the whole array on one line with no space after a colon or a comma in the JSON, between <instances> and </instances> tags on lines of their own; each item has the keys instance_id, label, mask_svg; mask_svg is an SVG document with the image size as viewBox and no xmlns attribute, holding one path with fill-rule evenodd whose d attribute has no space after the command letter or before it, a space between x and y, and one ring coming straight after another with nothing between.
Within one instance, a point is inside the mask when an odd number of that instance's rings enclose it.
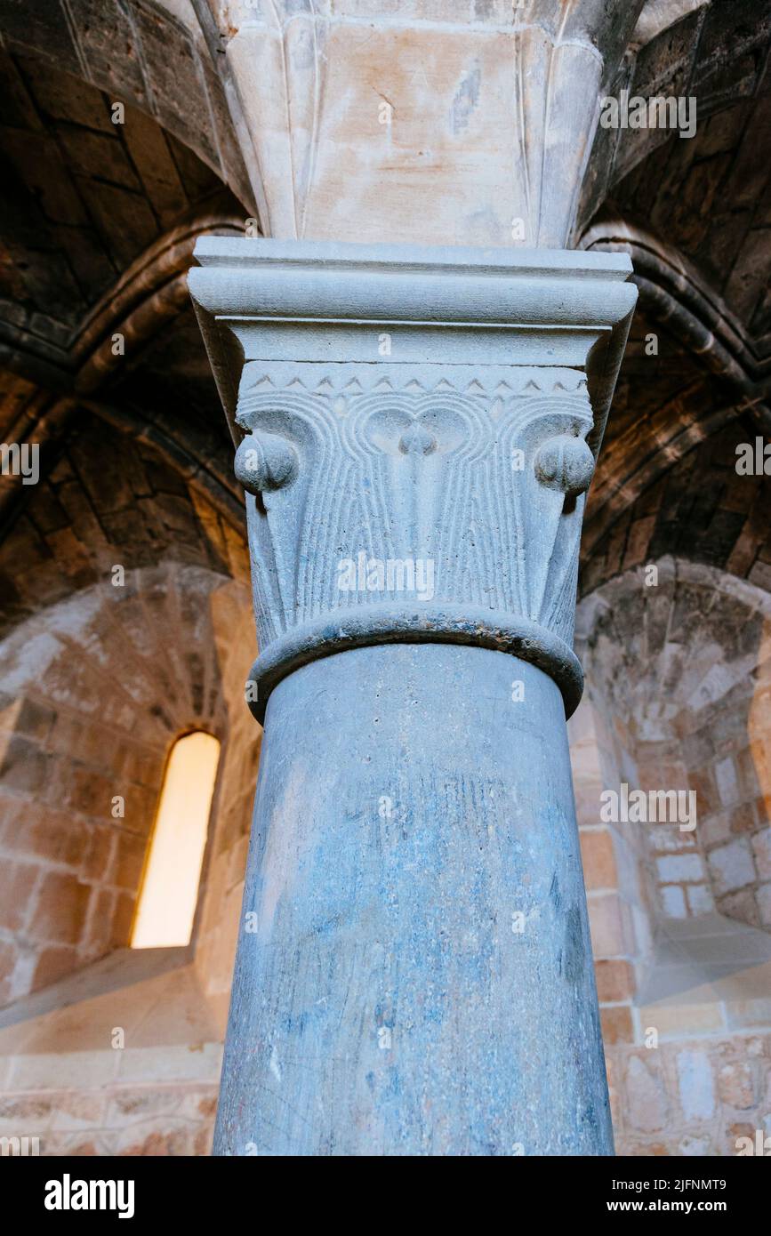
<instances>
[{"instance_id":1,"label":"dark ribbed stone vault right of the column capital","mask_svg":"<svg viewBox=\"0 0 771 1236\"><path fill-rule=\"evenodd\" d=\"M581 243L629 252L640 288L589 494L584 587L647 552L642 529L662 486L682 499L677 515L670 512L670 539L677 520L704 519L685 501L698 485L697 457L712 460L702 504L731 518L712 533L707 518L689 551L727 562L725 540L734 529L734 540L741 535L751 508L757 522L749 486L744 517L736 507L734 451L771 430L771 4L683 7L675 25L629 49L612 93L694 100L696 136L600 129L584 185ZM713 435L722 455L701 449ZM766 478L757 485L767 499ZM764 540L755 535L756 554Z\"/></svg>"}]
</instances>

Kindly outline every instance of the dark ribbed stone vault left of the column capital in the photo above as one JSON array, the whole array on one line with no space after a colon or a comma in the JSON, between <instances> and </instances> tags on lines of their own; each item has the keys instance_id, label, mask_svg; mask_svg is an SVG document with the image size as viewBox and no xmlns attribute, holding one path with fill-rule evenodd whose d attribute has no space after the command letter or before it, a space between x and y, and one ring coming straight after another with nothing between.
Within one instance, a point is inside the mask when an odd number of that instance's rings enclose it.
<instances>
[{"instance_id":1,"label":"dark ribbed stone vault left of the column capital","mask_svg":"<svg viewBox=\"0 0 771 1236\"><path fill-rule=\"evenodd\" d=\"M46 471L68 435L109 423L152 442L238 522L185 277L196 236L242 234L245 209L146 111L47 56L0 48L0 100L4 440L46 441ZM31 491L2 481L12 523Z\"/></svg>"}]
</instances>

